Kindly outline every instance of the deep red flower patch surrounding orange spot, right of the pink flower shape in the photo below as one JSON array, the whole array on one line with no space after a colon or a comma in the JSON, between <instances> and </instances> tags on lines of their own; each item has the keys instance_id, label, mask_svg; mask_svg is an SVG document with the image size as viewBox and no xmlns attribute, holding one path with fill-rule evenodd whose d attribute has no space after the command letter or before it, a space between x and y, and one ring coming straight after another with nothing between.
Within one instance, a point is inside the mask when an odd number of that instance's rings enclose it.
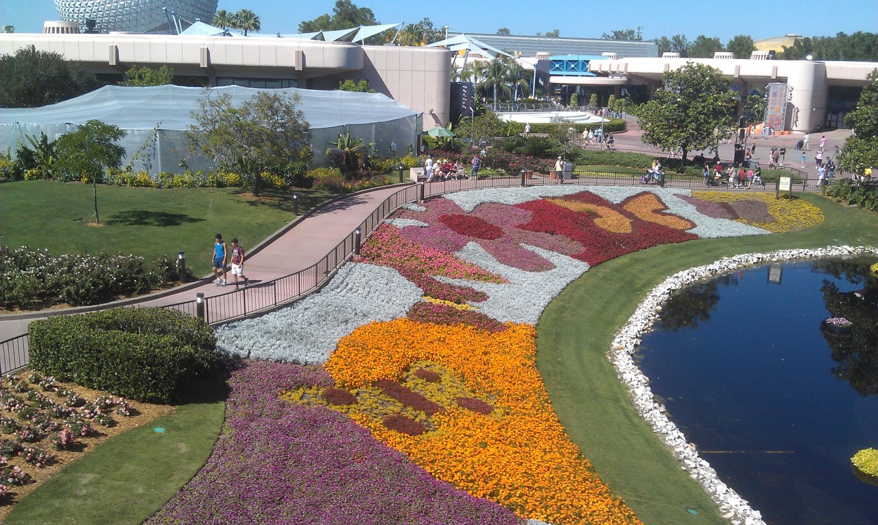
<instances>
[{"instance_id":1,"label":"deep red flower patch surrounding orange spot, right of the pink flower shape","mask_svg":"<svg viewBox=\"0 0 878 525\"><path fill-rule=\"evenodd\" d=\"M533 213L528 224L519 227L535 232L565 235L585 247L582 253L572 255L591 265L600 264L619 255L628 254L659 244L692 241L698 237L685 231L638 219L624 209L593 193L583 192L567 197L588 204L608 206L630 219L633 231L630 234L615 234L594 223L594 217L587 212L573 212L563 206L552 204L545 199L532 200L520 205ZM629 199L630 200L630 199Z\"/></svg>"}]
</instances>

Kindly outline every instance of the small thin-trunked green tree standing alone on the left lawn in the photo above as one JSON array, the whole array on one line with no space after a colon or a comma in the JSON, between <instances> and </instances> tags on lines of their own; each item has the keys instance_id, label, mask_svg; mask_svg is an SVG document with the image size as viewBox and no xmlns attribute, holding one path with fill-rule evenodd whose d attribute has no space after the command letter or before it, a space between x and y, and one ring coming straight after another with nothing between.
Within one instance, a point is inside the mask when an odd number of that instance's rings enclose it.
<instances>
[{"instance_id":1,"label":"small thin-trunked green tree standing alone on the left lawn","mask_svg":"<svg viewBox=\"0 0 878 525\"><path fill-rule=\"evenodd\" d=\"M97 213L97 182L101 180L105 169L122 165L125 148L116 142L126 134L118 126L89 120L75 132L63 134L58 139L58 160L55 164L63 173L91 181L97 223L101 221Z\"/></svg>"}]
</instances>

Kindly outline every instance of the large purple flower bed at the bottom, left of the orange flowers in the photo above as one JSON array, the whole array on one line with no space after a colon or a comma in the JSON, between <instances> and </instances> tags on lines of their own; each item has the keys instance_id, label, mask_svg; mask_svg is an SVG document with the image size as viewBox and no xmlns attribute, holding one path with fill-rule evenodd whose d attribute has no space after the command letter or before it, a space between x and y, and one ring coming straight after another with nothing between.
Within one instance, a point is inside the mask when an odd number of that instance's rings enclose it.
<instances>
[{"instance_id":1,"label":"large purple flower bed at the bottom, left of the orange flowers","mask_svg":"<svg viewBox=\"0 0 878 525\"><path fill-rule=\"evenodd\" d=\"M346 415L277 398L331 384L322 369L296 364L235 370L210 459L147 523L522 525L506 508L430 477Z\"/></svg>"}]
</instances>

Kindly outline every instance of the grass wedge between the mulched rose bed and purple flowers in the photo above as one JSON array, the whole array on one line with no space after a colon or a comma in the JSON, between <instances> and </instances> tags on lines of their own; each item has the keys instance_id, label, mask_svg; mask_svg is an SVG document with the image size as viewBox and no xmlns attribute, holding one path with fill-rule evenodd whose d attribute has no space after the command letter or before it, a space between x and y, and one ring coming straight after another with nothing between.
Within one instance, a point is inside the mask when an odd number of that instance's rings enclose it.
<instances>
[{"instance_id":1,"label":"grass wedge between the mulched rose bed and purple flowers","mask_svg":"<svg viewBox=\"0 0 878 525\"><path fill-rule=\"evenodd\" d=\"M98 445L12 508L7 525L137 525L162 507L210 456L222 426L225 385L212 399ZM207 397L207 396L203 396ZM164 428L163 433L155 428Z\"/></svg>"}]
</instances>

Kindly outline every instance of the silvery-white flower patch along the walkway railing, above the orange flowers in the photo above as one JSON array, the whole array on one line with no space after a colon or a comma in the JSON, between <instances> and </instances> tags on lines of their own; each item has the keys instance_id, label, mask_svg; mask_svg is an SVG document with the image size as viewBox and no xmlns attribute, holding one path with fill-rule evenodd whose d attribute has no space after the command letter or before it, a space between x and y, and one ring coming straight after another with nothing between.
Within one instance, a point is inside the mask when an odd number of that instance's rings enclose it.
<instances>
[{"instance_id":1,"label":"silvery-white flower patch along the walkway railing, above the orange flowers","mask_svg":"<svg viewBox=\"0 0 878 525\"><path fill-rule=\"evenodd\" d=\"M288 363L325 363L338 340L377 320L404 317L423 291L392 268L349 262L323 290L292 306L218 327L217 349Z\"/></svg>"}]
</instances>

